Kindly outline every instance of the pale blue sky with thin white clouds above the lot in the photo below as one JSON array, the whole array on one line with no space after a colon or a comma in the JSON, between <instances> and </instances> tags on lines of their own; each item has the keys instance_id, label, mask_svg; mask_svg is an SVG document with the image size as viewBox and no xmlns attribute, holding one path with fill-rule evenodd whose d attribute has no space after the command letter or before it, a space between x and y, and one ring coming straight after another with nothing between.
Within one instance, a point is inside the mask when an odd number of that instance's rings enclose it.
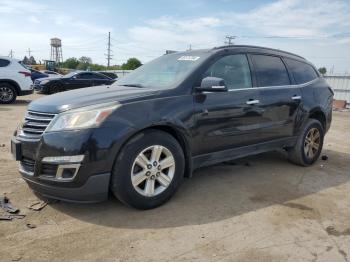
<instances>
[{"instance_id":1,"label":"pale blue sky with thin white clouds above the lot","mask_svg":"<svg viewBox=\"0 0 350 262\"><path fill-rule=\"evenodd\" d=\"M350 74L349 0L0 0L0 55L50 59L50 39L63 58L106 64L143 63L165 50L258 45L299 54L317 67Z\"/></svg>"}]
</instances>

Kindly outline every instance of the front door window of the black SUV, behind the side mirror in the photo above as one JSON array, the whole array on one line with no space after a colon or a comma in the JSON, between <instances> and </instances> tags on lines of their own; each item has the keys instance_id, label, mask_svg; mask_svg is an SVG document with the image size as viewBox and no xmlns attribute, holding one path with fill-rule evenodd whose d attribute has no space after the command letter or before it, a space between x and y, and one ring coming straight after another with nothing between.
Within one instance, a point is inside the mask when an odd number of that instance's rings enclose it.
<instances>
[{"instance_id":1,"label":"front door window of the black SUV, behind the side mirror","mask_svg":"<svg viewBox=\"0 0 350 262\"><path fill-rule=\"evenodd\" d=\"M250 68L246 55L237 54L220 58L204 73L225 80L228 89L252 87Z\"/></svg>"}]
</instances>

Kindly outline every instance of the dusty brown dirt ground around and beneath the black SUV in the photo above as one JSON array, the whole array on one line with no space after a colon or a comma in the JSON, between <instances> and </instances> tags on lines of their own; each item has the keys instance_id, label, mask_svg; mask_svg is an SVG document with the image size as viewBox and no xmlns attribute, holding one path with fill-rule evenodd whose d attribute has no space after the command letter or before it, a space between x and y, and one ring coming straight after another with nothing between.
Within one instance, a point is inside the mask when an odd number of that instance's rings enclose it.
<instances>
[{"instance_id":1,"label":"dusty brown dirt ground around and beneath the black SUV","mask_svg":"<svg viewBox=\"0 0 350 262\"><path fill-rule=\"evenodd\" d=\"M111 199L32 211L9 143L28 102L0 105L0 193L26 214L0 221L1 261L350 260L350 113L334 113L329 159L312 167L263 154L196 171L154 210Z\"/></svg>"}]
</instances>

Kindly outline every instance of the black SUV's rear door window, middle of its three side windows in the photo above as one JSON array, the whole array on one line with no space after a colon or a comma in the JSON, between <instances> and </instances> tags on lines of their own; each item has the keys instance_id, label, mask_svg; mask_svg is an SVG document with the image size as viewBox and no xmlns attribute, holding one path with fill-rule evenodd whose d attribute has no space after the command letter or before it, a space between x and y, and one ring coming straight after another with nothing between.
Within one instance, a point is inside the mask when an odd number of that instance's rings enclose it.
<instances>
[{"instance_id":1,"label":"black SUV's rear door window, middle of its three side windows","mask_svg":"<svg viewBox=\"0 0 350 262\"><path fill-rule=\"evenodd\" d=\"M290 85L287 69L281 58L268 55L252 55L259 86Z\"/></svg>"}]
</instances>

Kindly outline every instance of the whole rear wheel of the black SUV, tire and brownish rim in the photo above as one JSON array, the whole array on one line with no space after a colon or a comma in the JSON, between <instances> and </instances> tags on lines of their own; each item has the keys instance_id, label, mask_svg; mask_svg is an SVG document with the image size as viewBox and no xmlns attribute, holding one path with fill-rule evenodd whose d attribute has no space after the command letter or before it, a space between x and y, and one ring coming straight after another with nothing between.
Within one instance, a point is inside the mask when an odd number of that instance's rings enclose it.
<instances>
[{"instance_id":1,"label":"whole rear wheel of the black SUV, tire and brownish rim","mask_svg":"<svg viewBox=\"0 0 350 262\"><path fill-rule=\"evenodd\" d=\"M312 143L309 142L311 140ZM304 125L295 146L288 150L289 160L300 166L312 165L321 154L323 140L324 129L320 121L309 119Z\"/></svg>"}]
</instances>

